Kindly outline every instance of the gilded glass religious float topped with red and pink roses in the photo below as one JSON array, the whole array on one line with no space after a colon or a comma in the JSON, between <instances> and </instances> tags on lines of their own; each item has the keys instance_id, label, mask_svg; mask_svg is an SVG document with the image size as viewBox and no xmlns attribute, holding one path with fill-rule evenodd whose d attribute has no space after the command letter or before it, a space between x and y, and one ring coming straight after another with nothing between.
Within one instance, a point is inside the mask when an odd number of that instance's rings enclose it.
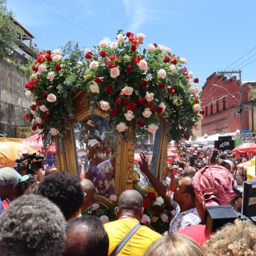
<instances>
[{"instance_id":1,"label":"gilded glass religious float topped with red and pink roses","mask_svg":"<svg viewBox=\"0 0 256 256\"><path fill-rule=\"evenodd\" d=\"M140 152L161 179L168 142L190 137L203 114L194 85L198 78L184 66L186 59L156 43L143 49L143 42L142 33L118 31L115 41L100 41L91 50L73 43L46 50L26 84L33 104L24 117L31 129L41 129L46 149L56 144L60 170L95 183L95 201L103 206L142 181L134 161ZM147 208L163 205L145 189ZM159 213L168 223L164 211Z\"/></svg>"}]
</instances>

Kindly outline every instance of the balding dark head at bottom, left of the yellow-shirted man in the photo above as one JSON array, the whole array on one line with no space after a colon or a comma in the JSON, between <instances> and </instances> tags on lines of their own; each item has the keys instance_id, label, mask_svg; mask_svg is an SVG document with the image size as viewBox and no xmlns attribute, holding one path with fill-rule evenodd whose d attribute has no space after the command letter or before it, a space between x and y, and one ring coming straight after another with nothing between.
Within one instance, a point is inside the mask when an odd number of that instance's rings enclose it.
<instances>
[{"instance_id":1,"label":"balding dark head at bottom, left of the yellow-shirted man","mask_svg":"<svg viewBox=\"0 0 256 256\"><path fill-rule=\"evenodd\" d=\"M66 233L67 242L63 256L107 256L109 238L98 218L82 215L70 220Z\"/></svg>"}]
</instances>

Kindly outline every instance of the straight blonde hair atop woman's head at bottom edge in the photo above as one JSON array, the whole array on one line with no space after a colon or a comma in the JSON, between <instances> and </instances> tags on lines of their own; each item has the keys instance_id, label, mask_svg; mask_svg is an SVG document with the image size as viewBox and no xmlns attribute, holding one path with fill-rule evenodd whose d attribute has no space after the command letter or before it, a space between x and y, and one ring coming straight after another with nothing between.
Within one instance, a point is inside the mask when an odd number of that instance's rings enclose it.
<instances>
[{"instance_id":1,"label":"straight blonde hair atop woman's head at bottom edge","mask_svg":"<svg viewBox=\"0 0 256 256\"><path fill-rule=\"evenodd\" d=\"M202 248L184 235L166 235L155 240L147 248L144 256L204 256Z\"/></svg>"}]
</instances>

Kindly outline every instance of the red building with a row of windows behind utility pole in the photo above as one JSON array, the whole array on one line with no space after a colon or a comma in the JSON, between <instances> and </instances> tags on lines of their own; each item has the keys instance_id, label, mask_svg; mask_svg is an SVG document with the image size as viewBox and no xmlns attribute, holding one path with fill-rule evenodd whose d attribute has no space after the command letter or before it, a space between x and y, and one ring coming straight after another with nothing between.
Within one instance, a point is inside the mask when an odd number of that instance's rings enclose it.
<instances>
[{"instance_id":1,"label":"red building with a row of windows behind utility pole","mask_svg":"<svg viewBox=\"0 0 256 256\"><path fill-rule=\"evenodd\" d=\"M256 130L256 82L242 82L243 128ZM225 134L241 129L239 80L223 75L210 75L201 92L201 106L205 110L202 134Z\"/></svg>"}]
</instances>

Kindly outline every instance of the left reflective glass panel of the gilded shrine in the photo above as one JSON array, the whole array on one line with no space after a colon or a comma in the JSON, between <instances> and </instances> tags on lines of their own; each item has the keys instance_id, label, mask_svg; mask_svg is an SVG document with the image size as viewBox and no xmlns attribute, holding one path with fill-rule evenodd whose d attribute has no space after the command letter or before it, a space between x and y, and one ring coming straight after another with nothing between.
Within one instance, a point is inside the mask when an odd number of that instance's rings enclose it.
<instances>
[{"instance_id":1,"label":"left reflective glass panel of the gilded shrine","mask_svg":"<svg viewBox=\"0 0 256 256\"><path fill-rule=\"evenodd\" d=\"M105 144L105 119L92 115L74 124L78 173L89 178L99 194L114 194L114 146Z\"/></svg>"}]
</instances>

